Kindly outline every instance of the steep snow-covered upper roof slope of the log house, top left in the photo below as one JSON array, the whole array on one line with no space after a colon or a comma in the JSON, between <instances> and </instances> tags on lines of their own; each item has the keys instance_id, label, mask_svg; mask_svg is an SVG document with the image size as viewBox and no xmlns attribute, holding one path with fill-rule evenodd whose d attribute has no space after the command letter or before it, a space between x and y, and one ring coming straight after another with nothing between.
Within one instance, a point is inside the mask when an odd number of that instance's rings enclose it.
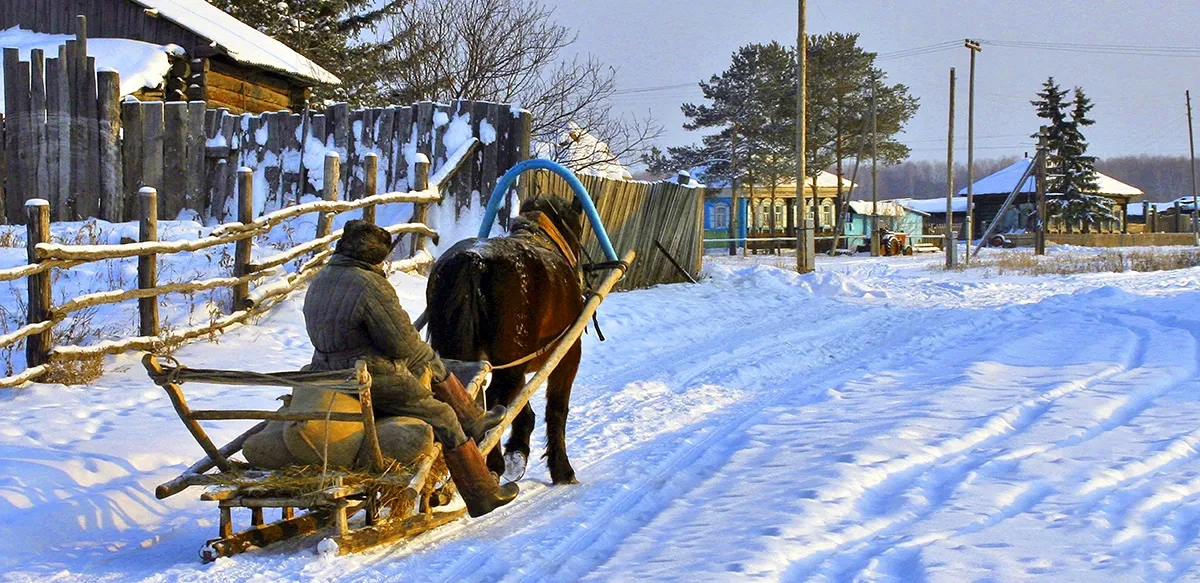
<instances>
[{"instance_id":1,"label":"steep snow-covered upper roof slope of the log house, top left","mask_svg":"<svg viewBox=\"0 0 1200 583\"><path fill-rule=\"evenodd\" d=\"M131 0L204 38L230 59L277 73L330 85L342 80L290 47L259 32L204 0ZM91 40L88 41L89 43ZM90 47L89 47L90 49Z\"/></svg>"}]
</instances>

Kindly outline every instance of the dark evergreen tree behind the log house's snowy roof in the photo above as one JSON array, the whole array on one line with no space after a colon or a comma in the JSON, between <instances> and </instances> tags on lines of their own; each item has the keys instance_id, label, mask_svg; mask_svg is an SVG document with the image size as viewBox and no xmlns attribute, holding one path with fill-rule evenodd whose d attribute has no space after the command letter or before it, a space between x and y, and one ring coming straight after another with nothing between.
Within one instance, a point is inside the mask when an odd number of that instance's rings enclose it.
<instances>
[{"instance_id":1,"label":"dark evergreen tree behind the log house's snowy roof","mask_svg":"<svg viewBox=\"0 0 1200 583\"><path fill-rule=\"evenodd\" d=\"M408 64L392 54L408 30L380 26L410 0L208 0L342 79L313 89L313 102L385 106L382 79Z\"/></svg>"}]
</instances>

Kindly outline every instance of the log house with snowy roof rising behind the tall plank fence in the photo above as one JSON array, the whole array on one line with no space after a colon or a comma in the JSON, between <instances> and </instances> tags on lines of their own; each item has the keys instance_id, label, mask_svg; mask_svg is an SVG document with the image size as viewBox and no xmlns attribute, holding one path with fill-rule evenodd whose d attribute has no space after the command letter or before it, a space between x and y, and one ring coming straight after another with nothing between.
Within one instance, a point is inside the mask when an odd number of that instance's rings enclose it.
<instances>
[{"instance_id":1,"label":"log house with snowy roof rising behind the tall plank fence","mask_svg":"<svg viewBox=\"0 0 1200 583\"><path fill-rule=\"evenodd\" d=\"M282 42L204 0L31 0L0 2L0 29L174 46L160 90L140 98L205 101L233 113L298 112L313 86L341 83ZM180 50L181 49L181 50Z\"/></svg>"}]
</instances>

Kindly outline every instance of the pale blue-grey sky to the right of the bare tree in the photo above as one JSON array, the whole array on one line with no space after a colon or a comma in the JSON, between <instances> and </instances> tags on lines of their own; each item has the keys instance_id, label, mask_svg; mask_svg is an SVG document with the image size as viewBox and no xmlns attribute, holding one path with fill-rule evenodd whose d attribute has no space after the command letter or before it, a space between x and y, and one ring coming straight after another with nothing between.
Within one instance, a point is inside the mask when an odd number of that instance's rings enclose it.
<instances>
[{"instance_id":1,"label":"pale blue-grey sky to the right of the bare tree","mask_svg":"<svg viewBox=\"0 0 1200 583\"><path fill-rule=\"evenodd\" d=\"M666 126L662 146L700 139L698 132L683 130L679 104L700 102L695 83L724 71L739 46L796 43L796 0L546 4L559 23L578 31L575 50L617 68L617 109L650 113ZM1192 1L809 0L808 28L810 35L859 32L860 46L881 55L888 80L908 85L919 97L920 109L901 136L913 160L946 160L950 67L958 72L955 160L966 160L970 52L959 43L916 56L882 58L964 38L983 41L976 62L977 160L1033 151L1028 136L1040 120L1030 101L1050 76L1064 88L1082 86L1096 103L1096 125L1085 133L1090 154L1188 154L1184 90L1200 90L1200 5ZM1158 55L1031 50L988 41L1121 47L1116 53L1133 52L1123 47L1171 47L1190 56L1164 56L1158 49L1142 50Z\"/></svg>"}]
</instances>

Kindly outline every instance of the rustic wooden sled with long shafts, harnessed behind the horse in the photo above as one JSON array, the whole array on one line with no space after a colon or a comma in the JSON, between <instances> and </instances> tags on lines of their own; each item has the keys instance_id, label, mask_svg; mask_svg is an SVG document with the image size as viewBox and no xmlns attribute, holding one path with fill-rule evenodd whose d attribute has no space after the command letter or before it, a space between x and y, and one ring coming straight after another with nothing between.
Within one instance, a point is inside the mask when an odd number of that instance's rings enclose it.
<instances>
[{"instance_id":1,"label":"rustic wooden sled with long shafts, harnessed behind the horse","mask_svg":"<svg viewBox=\"0 0 1200 583\"><path fill-rule=\"evenodd\" d=\"M634 252L625 254L625 265L634 260ZM612 290L623 269L610 270L590 299L584 303L580 318L550 350L545 365L538 369L521 392L509 404L504 421L491 431L479 444L485 455L494 447L504 431L512 425L517 413L529 402L534 392L546 381L550 373L566 351L582 336L592 314ZM258 373L246 371L216 371L187 368L174 359L145 355L143 365L150 378L170 397L170 402L188 432L204 450L205 457L192 464L178 477L160 485L155 495L160 499L182 492L191 486L204 486L202 500L215 501L221 512L218 536L200 549L204 561L242 553L253 547L263 547L276 541L307 536L329 527L334 534L322 541L323 552L346 554L403 540L452 522L466 513L466 509L439 511L437 506L454 498L454 482L449 479L437 443L418 453L415 462L394 467L385 459L379 447L376 420L371 409L371 374L364 362L354 371L331 372L281 372ZM449 365L449 363L448 363ZM454 367L454 365L449 365ZM452 368L454 369L454 368ZM460 363L454 372L464 380L467 390L479 396L485 389L491 366L486 362ZM467 381L469 379L469 381ZM185 383L224 384L242 386L295 387L319 386L341 392L353 392L362 405L362 413L290 413L275 410L192 410L187 405L181 385ZM259 420L260 422L224 446L217 447L208 437L200 421ZM270 420L284 421L350 421L361 422L364 440L370 457L370 467L364 471L328 470L320 473L319 487L296 492L283 487L294 476L287 470L262 470L246 462L233 459L242 450L246 440L266 427ZM234 530L233 509L250 510L250 525ZM278 519L266 522L265 510L278 509ZM298 510L300 512L298 512ZM352 518L362 512L361 522ZM272 512L274 513L274 512Z\"/></svg>"}]
</instances>

